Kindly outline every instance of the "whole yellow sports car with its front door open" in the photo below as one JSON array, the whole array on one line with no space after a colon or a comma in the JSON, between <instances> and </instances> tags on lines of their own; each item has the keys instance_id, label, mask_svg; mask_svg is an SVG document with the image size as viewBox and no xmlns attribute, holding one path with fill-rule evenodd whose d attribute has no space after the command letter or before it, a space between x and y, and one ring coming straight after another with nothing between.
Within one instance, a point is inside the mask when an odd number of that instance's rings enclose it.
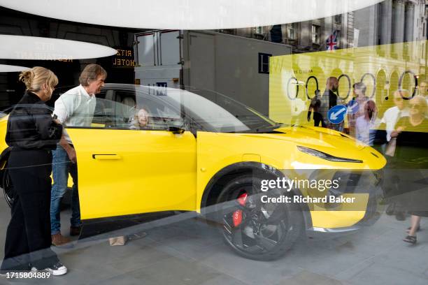
<instances>
[{"instance_id":1,"label":"whole yellow sports car with its front door open","mask_svg":"<svg viewBox=\"0 0 428 285\"><path fill-rule=\"evenodd\" d=\"M382 154L343 133L277 124L215 92L106 84L92 126L67 131L84 223L192 211L220 223L238 254L269 260L304 235L348 233L376 217ZM0 148L10 200L4 140Z\"/></svg>"}]
</instances>

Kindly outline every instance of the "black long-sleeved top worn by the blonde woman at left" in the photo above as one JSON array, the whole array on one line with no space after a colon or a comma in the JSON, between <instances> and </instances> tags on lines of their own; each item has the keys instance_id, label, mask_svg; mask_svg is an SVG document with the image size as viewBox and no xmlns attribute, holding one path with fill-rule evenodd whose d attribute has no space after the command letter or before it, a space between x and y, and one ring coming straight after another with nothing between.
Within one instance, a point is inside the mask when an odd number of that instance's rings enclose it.
<instances>
[{"instance_id":1,"label":"black long-sleeved top worn by the blonde woman at left","mask_svg":"<svg viewBox=\"0 0 428 285\"><path fill-rule=\"evenodd\" d=\"M48 105L31 92L25 92L8 118L6 143L16 149L55 149L62 136L62 125L52 120Z\"/></svg>"}]
</instances>

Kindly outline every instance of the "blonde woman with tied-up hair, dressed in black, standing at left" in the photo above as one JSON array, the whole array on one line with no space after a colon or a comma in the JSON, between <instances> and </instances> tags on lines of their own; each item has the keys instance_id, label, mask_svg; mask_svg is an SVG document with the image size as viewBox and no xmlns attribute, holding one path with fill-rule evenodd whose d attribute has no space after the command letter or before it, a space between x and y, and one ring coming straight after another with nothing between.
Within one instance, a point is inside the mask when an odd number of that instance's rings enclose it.
<instances>
[{"instance_id":1,"label":"blonde woman with tied-up hair, dressed in black, standing at left","mask_svg":"<svg viewBox=\"0 0 428 285\"><path fill-rule=\"evenodd\" d=\"M63 275L67 269L50 249L51 150L62 136L62 125L45 105L58 84L57 76L36 66L20 74L26 92L10 112L6 143L8 172L15 191L6 233L1 272L48 270Z\"/></svg>"}]
</instances>

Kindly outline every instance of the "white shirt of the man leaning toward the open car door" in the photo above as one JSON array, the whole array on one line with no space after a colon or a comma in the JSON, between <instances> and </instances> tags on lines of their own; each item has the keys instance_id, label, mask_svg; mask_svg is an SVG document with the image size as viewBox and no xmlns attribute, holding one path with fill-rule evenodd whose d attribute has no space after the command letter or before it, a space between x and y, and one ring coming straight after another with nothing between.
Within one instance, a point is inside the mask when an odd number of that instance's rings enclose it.
<instances>
[{"instance_id":1,"label":"white shirt of the man leaning toward the open car door","mask_svg":"<svg viewBox=\"0 0 428 285\"><path fill-rule=\"evenodd\" d=\"M65 92L55 101L54 114L64 126L91 126L95 110L95 95L87 94L82 85ZM71 143L64 129L64 137Z\"/></svg>"}]
</instances>

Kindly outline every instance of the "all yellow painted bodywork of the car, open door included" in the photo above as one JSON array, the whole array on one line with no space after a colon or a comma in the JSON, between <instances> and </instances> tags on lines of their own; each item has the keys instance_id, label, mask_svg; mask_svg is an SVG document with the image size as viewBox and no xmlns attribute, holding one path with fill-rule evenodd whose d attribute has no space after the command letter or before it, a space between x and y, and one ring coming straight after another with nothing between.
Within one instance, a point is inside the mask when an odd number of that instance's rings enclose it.
<instances>
[{"instance_id":1,"label":"all yellow painted bodywork of the car, open door included","mask_svg":"<svg viewBox=\"0 0 428 285\"><path fill-rule=\"evenodd\" d=\"M6 133L6 118L0 120ZM289 126L276 133L212 133L200 131L144 131L67 129L78 157L78 185L82 219L168 210L201 212L208 182L223 168L252 161L278 170L377 170L385 158L336 131ZM1 147L6 143L1 140ZM297 145L362 163L325 161L305 154ZM70 184L70 181L69 181ZM71 184L70 184L71 186ZM314 227L352 226L365 214L369 194L356 197L356 207L341 210L311 208Z\"/></svg>"}]
</instances>

